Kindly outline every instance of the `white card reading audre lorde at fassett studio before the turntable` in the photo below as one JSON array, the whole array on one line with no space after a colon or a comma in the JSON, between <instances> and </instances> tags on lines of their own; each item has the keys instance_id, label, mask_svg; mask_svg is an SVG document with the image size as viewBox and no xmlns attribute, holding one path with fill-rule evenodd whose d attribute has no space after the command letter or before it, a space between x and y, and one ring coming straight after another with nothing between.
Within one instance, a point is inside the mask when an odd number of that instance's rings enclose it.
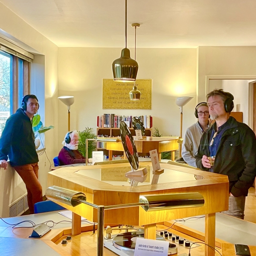
<instances>
[{"instance_id":1,"label":"white card reading audre lorde at fassett studio before the turntable","mask_svg":"<svg viewBox=\"0 0 256 256\"><path fill-rule=\"evenodd\" d=\"M168 241L137 238L134 256L167 256Z\"/></svg>"}]
</instances>

